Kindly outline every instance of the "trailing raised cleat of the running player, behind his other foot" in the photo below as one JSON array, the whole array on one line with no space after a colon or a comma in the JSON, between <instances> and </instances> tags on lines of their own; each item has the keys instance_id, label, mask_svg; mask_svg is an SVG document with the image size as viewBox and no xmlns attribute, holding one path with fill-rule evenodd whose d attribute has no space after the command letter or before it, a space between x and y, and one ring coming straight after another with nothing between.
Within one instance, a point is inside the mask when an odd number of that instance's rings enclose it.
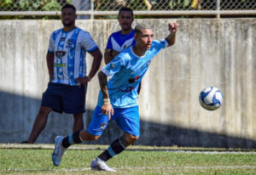
<instances>
[{"instance_id":1,"label":"trailing raised cleat of the running player, behind his other foot","mask_svg":"<svg viewBox=\"0 0 256 175\"><path fill-rule=\"evenodd\" d=\"M57 136L55 138L55 150L51 155L52 162L55 166L59 166L61 164L61 157L65 152L65 148L62 146L62 136Z\"/></svg>"}]
</instances>

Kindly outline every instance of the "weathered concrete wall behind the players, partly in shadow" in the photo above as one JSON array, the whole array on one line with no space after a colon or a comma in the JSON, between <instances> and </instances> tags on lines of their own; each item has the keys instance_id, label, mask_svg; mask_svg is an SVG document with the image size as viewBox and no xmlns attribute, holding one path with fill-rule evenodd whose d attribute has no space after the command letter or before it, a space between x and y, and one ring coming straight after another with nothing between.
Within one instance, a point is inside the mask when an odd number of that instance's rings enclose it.
<instances>
[{"instance_id":1,"label":"weathered concrete wall behind the players, partly in shadow","mask_svg":"<svg viewBox=\"0 0 256 175\"><path fill-rule=\"evenodd\" d=\"M140 21L154 25L158 39L167 36L170 21L179 29L176 44L154 58L143 79L137 144L255 148L256 19L136 20L134 25ZM90 31L102 52L108 36L119 30L116 20L77 20L77 25ZM19 143L28 137L46 89L49 34L61 21L0 20L0 26L0 142ZM204 110L198 102L208 86L224 93L218 110ZM86 127L98 90L94 78ZM36 143L54 143L56 135L72 133L72 124L71 115L52 112ZM121 134L113 122L96 144Z\"/></svg>"}]
</instances>

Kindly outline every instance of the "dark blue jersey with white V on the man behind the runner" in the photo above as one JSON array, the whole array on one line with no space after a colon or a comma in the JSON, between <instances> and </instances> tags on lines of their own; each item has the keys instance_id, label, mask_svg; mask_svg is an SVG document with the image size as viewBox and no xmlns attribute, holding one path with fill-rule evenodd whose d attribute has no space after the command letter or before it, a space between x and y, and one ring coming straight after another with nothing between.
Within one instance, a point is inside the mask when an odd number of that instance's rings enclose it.
<instances>
[{"instance_id":1,"label":"dark blue jersey with white V on the man behind the runner","mask_svg":"<svg viewBox=\"0 0 256 175\"><path fill-rule=\"evenodd\" d=\"M136 41L134 39L134 33L135 33L134 30L132 30L127 35L123 35L121 33L121 31L113 32L108 37L108 43L107 43L106 48L113 49L115 51L121 52L125 48L128 48L130 46L134 46L136 44Z\"/></svg>"}]
</instances>

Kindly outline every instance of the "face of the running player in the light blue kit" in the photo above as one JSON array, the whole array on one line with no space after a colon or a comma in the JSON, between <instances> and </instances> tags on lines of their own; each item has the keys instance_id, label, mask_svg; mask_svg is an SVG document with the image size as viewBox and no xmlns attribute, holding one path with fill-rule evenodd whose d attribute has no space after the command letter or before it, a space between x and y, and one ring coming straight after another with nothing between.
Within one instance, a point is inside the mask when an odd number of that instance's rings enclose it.
<instances>
[{"instance_id":1,"label":"face of the running player in the light blue kit","mask_svg":"<svg viewBox=\"0 0 256 175\"><path fill-rule=\"evenodd\" d=\"M150 49L153 42L154 31L153 29L143 29L142 32L135 36L137 46L143 49Z\"/></svg>"}]
</instances>

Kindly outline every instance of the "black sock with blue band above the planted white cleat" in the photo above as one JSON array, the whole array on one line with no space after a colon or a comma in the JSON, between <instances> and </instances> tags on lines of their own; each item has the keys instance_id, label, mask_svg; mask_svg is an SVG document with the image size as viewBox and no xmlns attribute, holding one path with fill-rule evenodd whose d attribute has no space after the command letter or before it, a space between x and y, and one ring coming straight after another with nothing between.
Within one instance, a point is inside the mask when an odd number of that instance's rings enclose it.
<instances>
[{"instance_id":1,"label":"black sock with blue band above the planted white cleat","mask_svg":"<svg viewBox=\"0 0 256 175\"><path fill-rule=\"evenodd\" d=\"M98 157L102 161L108 161L110 158L112 158L114 155L118 155L123 150L126 149L126 146L122 143L122 138L118 138L115 141L113 141L112 144L108 147L108 150L104 150L101 155Z\"/></svg>"}]
</instances>

